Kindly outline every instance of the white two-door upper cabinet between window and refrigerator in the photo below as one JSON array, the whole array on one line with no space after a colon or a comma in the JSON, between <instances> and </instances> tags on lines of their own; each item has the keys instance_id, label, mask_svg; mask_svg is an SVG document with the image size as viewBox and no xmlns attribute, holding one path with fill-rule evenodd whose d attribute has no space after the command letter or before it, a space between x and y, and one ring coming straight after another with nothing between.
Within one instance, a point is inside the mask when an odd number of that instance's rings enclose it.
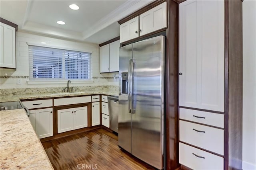
<instances>
[{"instance_id":1,"label":"white two-door upper cabinet between window and refrigerator","mask_svg":"<svg viewBox=\"0 0 256 170\"><path fill-rule=\"evenodd\" d=\"M100 72L118 72L120 40L100 47Z\"/></svg>"}]
</instances>

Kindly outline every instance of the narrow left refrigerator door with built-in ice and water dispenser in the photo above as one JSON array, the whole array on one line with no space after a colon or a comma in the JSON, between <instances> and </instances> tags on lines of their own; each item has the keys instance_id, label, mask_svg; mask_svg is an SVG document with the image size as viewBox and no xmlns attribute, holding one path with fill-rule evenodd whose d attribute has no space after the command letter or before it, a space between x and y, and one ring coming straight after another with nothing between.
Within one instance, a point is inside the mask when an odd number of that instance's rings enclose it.
<instances>
[{"instance_id":1,"label":"narrow left refrigerator door with built-in ice and water dispenser","mask_svg":"<svg viewBox=\"0 0 256 170\"><path fill-rule=\"evenodd\" d=\"M132 114L129 113L128 101L128 68L132 59L132 44L120 48L119 52L119 114L118 145L131 153L132 147Z\"/></svg>"}]
</instances>

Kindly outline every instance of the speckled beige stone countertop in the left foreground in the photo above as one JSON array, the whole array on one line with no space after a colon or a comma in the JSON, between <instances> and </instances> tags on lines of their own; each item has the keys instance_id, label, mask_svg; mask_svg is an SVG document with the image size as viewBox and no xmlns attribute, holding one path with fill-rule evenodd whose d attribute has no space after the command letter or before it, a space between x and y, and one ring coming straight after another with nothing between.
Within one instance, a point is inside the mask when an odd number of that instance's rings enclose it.
<instances>
[{"instance_id":1,"label":"speckled beige stone countertop in the left foreground","mask_svg":"<svg viewBox=\"0 0 256 170\"><path fill-rule=\"evenodd\" d=\"M0 111L1 169L53 170L24 109Z\"/></svg>"}]
</instances>

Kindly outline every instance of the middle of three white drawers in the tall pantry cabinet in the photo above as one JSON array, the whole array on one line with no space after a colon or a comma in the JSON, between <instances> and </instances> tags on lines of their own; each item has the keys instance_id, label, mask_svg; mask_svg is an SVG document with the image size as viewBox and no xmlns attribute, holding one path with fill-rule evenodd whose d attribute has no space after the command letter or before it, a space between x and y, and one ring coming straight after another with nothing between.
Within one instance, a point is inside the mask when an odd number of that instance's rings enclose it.
<instances>
[{"instance_id":1,"label":"middle of three white drawers in the tall pantry cabinet","mask_svg":"<svg viewBox=\"0 0 256 170\"><path fill-rule=\"evenodd\" d=\"M224 155L222 129L180 121L180 141Z\"/></svg>"}]
</instances>

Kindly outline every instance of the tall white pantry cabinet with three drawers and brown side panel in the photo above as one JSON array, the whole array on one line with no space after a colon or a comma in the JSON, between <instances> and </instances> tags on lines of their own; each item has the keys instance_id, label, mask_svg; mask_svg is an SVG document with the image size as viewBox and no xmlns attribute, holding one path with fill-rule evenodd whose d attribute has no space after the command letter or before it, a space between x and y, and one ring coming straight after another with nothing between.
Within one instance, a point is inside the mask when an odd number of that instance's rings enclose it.
<instances>
[{"instance_id":1,"label":"tall white pantry cabinet with three drawers and brown side panel","mask_svg":"<svg viewBox=\"0 0 256 170\"><path fill-rule=\"evenodd\" d=\"M179 4L179 163L242 169L242 1Z\"/></svg>"}]
</instances>

